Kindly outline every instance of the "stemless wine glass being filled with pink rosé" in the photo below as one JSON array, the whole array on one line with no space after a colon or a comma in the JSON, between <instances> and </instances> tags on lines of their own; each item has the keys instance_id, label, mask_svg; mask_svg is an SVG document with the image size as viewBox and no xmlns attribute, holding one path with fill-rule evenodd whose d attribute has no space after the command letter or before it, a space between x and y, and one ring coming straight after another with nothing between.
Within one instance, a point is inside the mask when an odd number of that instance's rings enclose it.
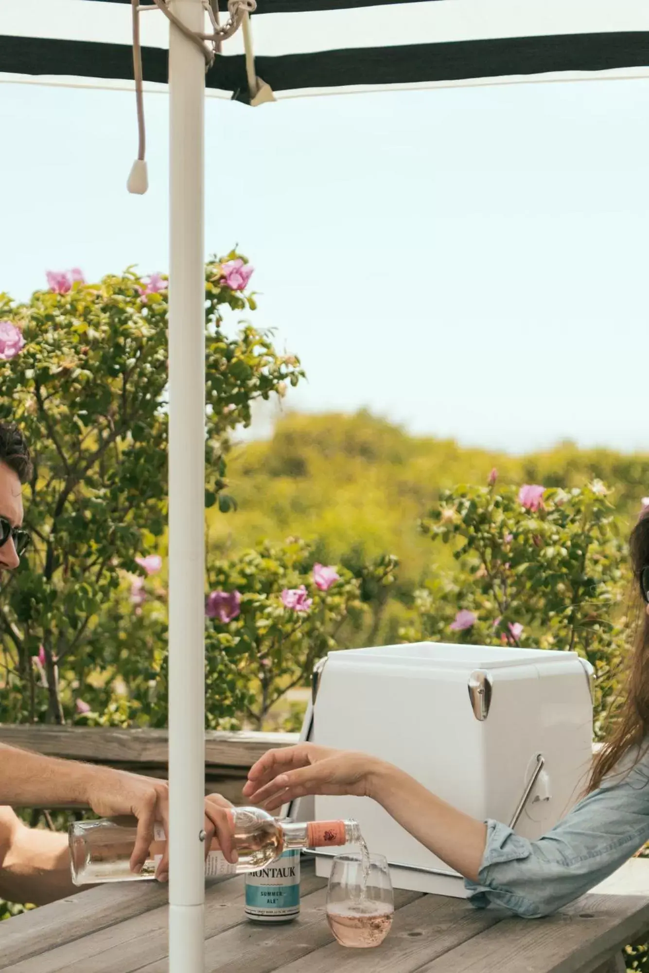
<instances>
[{"instance_id":1,"label":"stemless wine glass being filled with pink ros\u00e9","mask_svg":"<svg viewBox=\"0 0 649 973\"><path fill-rule=\"evenodd\" d=\"M388 862L369 855L366 874L360 853L333 859L326 892L326 919L341 946L380 946L393 924L394 896Z\"/></svg>"}]
</instances>

